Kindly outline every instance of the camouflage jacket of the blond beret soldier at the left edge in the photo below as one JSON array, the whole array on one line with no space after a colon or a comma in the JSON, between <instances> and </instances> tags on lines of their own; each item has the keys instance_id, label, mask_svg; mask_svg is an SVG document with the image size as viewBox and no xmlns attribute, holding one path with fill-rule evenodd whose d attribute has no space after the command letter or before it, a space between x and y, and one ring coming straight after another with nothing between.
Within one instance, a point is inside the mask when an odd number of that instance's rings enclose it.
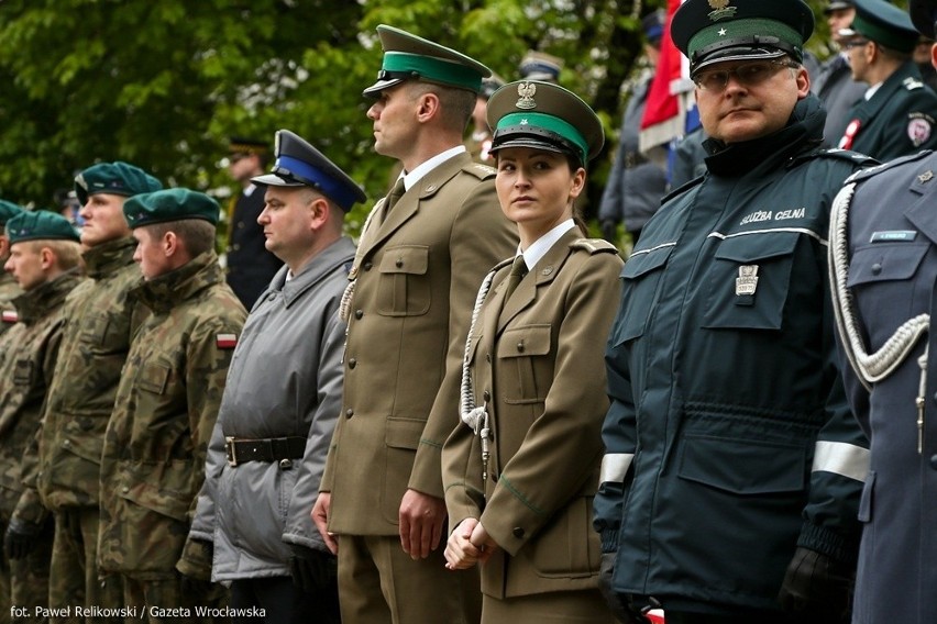
<instances>
[{"instance_id":1,"label":"camouflage jacket of the blond beret soldier at the left edge","mask_svg":"<svg viewBox=\"0 0 937 624\"><path fill-rule=\"evenodd\" d=\"M65 297L81 278L68 271L13 300L20 315L0 353L0 505L9 519L35 468L35 434L52 381L64 324ZM46 513L33 504L22 517L38 522Z\"/></svg>"}]
</instances>

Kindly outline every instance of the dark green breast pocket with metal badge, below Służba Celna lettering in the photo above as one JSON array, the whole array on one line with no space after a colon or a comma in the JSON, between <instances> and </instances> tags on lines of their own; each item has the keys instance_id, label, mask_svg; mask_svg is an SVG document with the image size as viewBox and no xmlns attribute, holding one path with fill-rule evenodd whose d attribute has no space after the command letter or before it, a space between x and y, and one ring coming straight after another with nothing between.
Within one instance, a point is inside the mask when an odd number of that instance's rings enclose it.
<instances>
[{"instance_id":1,"label":"dark green breast pocket with metal badge, below S\u0142u\u017cba Celna lettering","mask_svg":"<svg viewBox=\"0 0 937 624\"><path fill-rule=\"evenodd\" d=\"M726 238L708 271L707 328L780 330L798 234Z\"/></svg>"}]
</instances>

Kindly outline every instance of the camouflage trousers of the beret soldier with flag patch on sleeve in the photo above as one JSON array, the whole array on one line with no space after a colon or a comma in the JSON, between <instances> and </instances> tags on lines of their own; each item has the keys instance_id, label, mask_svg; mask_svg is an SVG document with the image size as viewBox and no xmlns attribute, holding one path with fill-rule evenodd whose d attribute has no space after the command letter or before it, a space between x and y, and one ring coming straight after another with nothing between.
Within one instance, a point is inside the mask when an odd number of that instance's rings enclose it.
<instances>
[{"instance_id":1,"label":"camouflage trousers of the beret soldier with flag patch on sleeve","mask_svg":"<svg viewBox=\"0 0 937 624\"><path fill-rule=\"evenodd\" d=\"M211 584L205 593L184 592L181 575L156 580L140 580L123 576L123 599L135 608L134 620L148 624L221 624L229 617L216 615L228 605L228 591ZM130 619L128 619L130 621Z\"/></svg>"}]
</instances>

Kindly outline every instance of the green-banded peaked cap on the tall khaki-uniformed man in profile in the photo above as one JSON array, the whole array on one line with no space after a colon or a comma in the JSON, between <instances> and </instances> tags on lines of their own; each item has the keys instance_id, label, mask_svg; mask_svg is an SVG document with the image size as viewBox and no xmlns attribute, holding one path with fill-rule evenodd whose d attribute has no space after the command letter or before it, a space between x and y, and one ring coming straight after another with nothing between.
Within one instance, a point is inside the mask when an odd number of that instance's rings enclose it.
<instances>
[{"instance_id":1,"label":"green-banded peaked cap on the tall khaki-uniformed man in profile","mask_svg":"<svg viewBox=\"0 0 937 624\"><path fill-rule=\"evenodd\" d=\"M492 70L461 52L455 52L400 29L381 24L377 36L384 48L384 60L377 81L362 94L376 98L377 93L404 80L437 82L475 93L482 88L482 78Z\"/></svg>"}]
</instances>

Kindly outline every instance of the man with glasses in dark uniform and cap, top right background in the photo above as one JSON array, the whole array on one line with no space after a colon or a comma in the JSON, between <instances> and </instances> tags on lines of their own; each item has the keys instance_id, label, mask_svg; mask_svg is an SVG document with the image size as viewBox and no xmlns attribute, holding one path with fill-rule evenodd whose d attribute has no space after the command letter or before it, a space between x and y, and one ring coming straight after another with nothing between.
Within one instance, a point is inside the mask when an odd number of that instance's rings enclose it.
<instances>
[{"instance_id":1,"label":"man with glasses in dark uniform and cap, top right background","mask_svg":"<svg viewBox=\"0 0 937 624\"><path fill-rule=\"evenodd\" d=\"M937 94L912 58L921 34L907 13L886 0L856 0L852 25L840 34L852 78L871 87L849 112L839 146L882 163L937 147Z\"/></svg>"}]
</instances>

